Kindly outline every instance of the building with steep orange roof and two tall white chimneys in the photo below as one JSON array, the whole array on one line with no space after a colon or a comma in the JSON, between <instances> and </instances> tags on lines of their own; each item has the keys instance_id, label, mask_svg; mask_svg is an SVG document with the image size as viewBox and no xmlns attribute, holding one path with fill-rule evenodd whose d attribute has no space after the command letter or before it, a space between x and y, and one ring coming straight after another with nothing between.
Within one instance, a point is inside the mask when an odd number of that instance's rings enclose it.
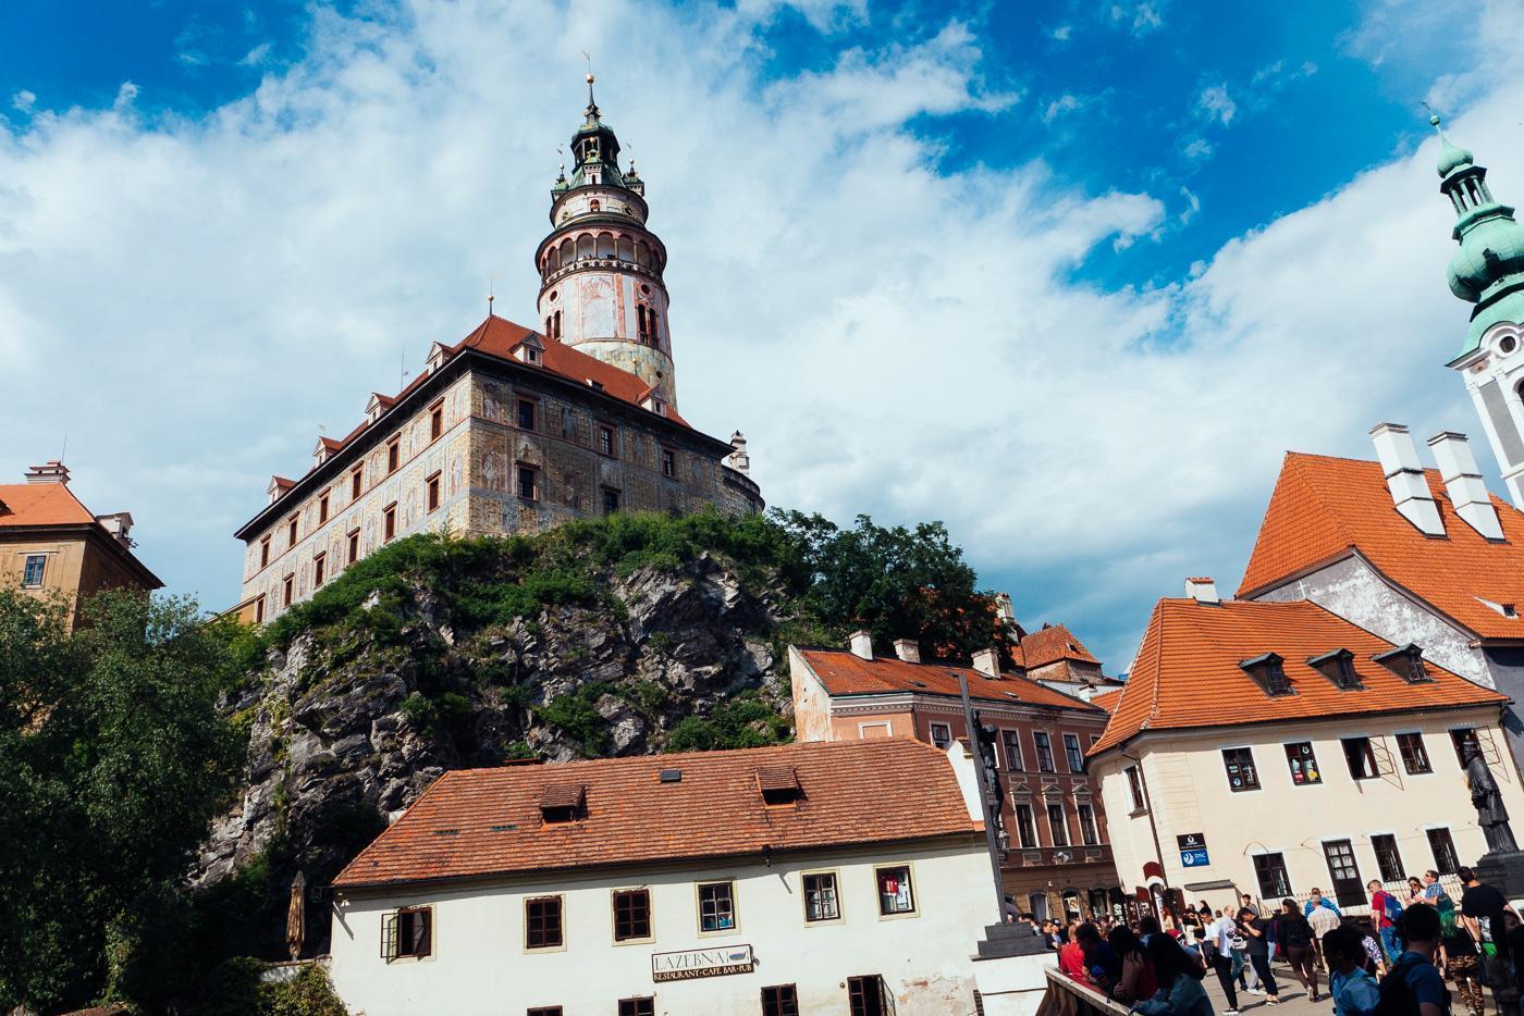
<instances>
[{"instance_id":1,"label":"building with steep orange roof and two tall white chimneys","mask_svg":"<svg viewBox=\"0 0 1524 1016\"><path fill-rule=\"evenodd\" d=\"M1286 455L1239 599L1312 600L1518 699L1524 513L1487 494L1465 436L1431 437L1425 469L1407 428L1372 434L1379 462Z\"/></svg>"}]
</instances>

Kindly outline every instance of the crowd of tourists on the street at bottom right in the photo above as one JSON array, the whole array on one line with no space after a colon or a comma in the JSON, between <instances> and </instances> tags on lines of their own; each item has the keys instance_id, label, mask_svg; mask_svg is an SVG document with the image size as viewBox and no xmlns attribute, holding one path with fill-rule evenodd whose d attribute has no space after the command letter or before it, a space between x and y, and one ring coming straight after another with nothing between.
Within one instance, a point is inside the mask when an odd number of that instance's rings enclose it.
<instances>
[{"instance_id":1,"label":"crowd of tourists on the street at bottom right","mask_svg":"<svg viewBox=\"0 0 1524 1016\"><path fill-rule=\"evenodd\" d=\"M1446 981L1463 1016L1486 1016L1487 989L1497 1016L1524 1016L1519 915L1471 868L1457 874L1458 902L1436 871L1410 879L1402 893L1372 882L1370 915L1358 919L1312 890L1300 903L1244 896L1237 908L1201 902L1135 922L1024 920L1058 952L1062 973L1143 1016L1213 1016L1207 973L1227 999L1221 1016L1237 1016L1241 993L1279 1005L1282 981L1332 1004L1335 1016L1451 1016Z\"/></svg>"}]
</instances>

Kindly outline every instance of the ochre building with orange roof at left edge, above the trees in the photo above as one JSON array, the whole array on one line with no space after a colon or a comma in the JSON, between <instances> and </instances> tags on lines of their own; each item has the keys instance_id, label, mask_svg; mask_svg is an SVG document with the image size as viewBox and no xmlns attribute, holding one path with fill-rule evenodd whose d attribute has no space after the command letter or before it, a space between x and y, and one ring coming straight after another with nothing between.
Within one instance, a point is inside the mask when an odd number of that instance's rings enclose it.
<instances>
[{"instance_id":1,"label":"ochre building with orange roof at left edge, above the trees","mask_svg":"<svg viewBox=\"0 0 1524 1016\"><path fill-rule=\"evenodd\" d=\"M49 462L26 483L0 484L0 583L59 594L78 620L82 600L102 589L157 589L163 582L133 553L133 516L94 515L69 489L69 469Z\"/></svg>"}]
</instances>

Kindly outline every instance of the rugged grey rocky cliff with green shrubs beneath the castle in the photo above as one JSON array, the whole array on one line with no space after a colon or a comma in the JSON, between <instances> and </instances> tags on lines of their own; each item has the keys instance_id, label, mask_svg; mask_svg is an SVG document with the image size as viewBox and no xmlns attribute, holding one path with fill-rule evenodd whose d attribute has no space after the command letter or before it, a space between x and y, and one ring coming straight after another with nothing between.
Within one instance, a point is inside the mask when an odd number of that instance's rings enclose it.
<instances>
[{"instance_id":1,"label":"rugged grey rocky cliff with green shrubs beneath the castle","mask_svg":"<svg viewBox=\"0 0 1524 1016\"><path fill-rule=\"evenodd\" d=\"M253 638L226 704L248 730L247 786L192 880L258 873L276 932L290 874L326 885L445 769L786 739L796 599L773 548L738 532L424 536L352 567ZM326 908L308 911L322 947Z\"/></svg>"}]
</instances>

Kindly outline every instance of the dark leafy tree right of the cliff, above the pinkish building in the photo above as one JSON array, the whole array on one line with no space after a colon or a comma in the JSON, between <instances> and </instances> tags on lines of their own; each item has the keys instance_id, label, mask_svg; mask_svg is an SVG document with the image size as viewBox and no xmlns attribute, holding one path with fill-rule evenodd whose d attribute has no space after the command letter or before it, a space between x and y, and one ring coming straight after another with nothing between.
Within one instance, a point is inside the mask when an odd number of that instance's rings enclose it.
<instances>
[{"instance_id":1,"label":"dark leafy tree right of the cliff, above the pinkish building","mask_svg":"<svg viewBox=\"0 0 1524 1016\"><path fill-rule=\"evenodd\" d=\"M942 522L885 529L858 515L841 529L820 515L773 518L809 574L808 608L838 634L866 628L884 646L916 638L927 653L960 660L997 641L994 600L975 589L978 576Z\"/></svg>"}]
</instances>

